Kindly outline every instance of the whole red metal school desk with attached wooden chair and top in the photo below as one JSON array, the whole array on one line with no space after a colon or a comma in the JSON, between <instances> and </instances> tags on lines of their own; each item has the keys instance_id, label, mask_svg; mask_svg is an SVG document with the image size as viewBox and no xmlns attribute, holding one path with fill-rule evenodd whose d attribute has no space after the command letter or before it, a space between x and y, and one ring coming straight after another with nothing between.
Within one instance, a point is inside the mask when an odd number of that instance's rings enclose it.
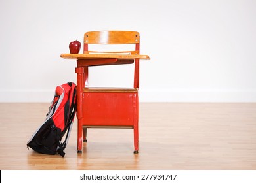
<instances>
[{"instance_id":1,"label":"whole red metal school desk with attached wooden chair and top","mask_svg":"<svg viewBox=\"0 0 256 183\"><path fill-rule=\"evenodd\" d=\"M136 31L90 31L85 33L83 54L62 54L62 58L77 59L77 152L87 142L87 129L133 129L134 153L139 152L139 60L149 59L139 54L140 35ZM132 50L96 51L91 44L134 44ZM89 67L133 64L133 86L128 88L91 88Z\"/></svg>"}]
</instances>

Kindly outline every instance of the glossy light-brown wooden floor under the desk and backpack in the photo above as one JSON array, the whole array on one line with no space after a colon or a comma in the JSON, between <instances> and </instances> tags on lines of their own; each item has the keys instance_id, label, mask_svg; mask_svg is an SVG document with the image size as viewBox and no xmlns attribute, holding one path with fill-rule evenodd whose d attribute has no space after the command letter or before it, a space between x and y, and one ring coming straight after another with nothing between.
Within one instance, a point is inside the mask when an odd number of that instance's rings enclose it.
<instances>
[{"instance_id":1,"label":"glossy light-brown wooden floor under the desk and backpack","mask_svg":"<svg viewBox=\"0 0 256 183\"><path fill-rule=\"evenodd\" d=\"M49 103L0 103L0 169L256 169L256 103L140 103L140 150L132 129L89 129L77 154L75 120L66 156L26 143Z\"/></svg>"}]
</instances>

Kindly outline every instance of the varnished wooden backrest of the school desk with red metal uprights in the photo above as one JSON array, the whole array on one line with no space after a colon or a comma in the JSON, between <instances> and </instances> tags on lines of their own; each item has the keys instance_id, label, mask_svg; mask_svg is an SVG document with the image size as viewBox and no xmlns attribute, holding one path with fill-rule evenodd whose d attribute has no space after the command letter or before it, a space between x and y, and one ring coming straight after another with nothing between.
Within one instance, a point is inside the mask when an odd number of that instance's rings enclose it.
<instances>
[{"instance_id":1,"label":"varnished wooden backrest of the school desk with red metal uprights","mask_svg":"<svg viewBox=\"0 0 256 183\"><path fill-rule=\"evenodd\" d=\"M135 44L131 50L104 52L139 54L140 34L137 31L89 31L85 33L83 43L84 54L102 52L90 50L89 44ZM139 88L139 59L135 59L134 88Z\"/></svg>"}]
</instances>

